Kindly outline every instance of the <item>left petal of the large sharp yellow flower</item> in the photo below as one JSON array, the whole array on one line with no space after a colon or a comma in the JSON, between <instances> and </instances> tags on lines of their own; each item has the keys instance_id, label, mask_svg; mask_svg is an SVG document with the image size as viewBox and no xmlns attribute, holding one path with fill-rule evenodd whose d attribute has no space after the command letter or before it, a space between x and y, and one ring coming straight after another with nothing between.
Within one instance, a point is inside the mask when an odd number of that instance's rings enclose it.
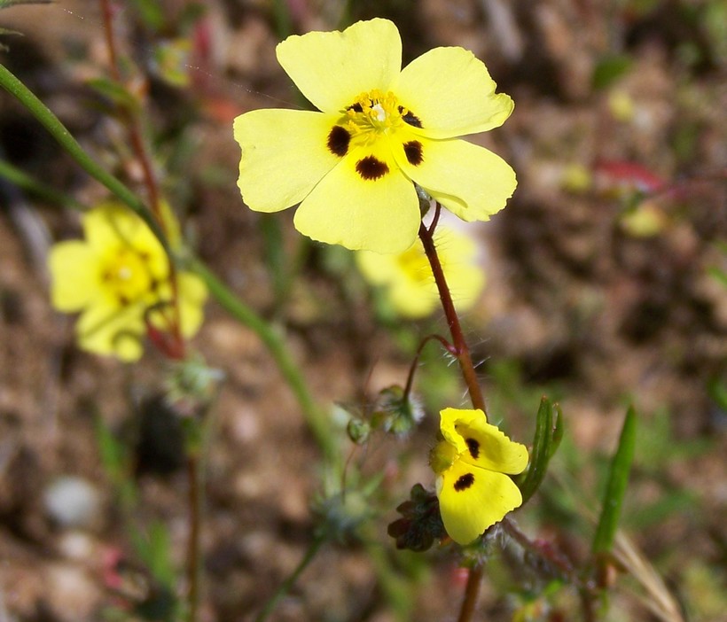
<instances>
[{"instance_id":1,"label":"left petal of the large sharp yellow flower","mask_svg":"<svg viewBox=\"0 0 727 622\"><path fill-rule=\"evenodd\" d=\"M235 119L242 148L238 187L257 212L300 203L340 162L326 141L340 115L300 110L254 110Z\"/></svg>"}]
</instances>

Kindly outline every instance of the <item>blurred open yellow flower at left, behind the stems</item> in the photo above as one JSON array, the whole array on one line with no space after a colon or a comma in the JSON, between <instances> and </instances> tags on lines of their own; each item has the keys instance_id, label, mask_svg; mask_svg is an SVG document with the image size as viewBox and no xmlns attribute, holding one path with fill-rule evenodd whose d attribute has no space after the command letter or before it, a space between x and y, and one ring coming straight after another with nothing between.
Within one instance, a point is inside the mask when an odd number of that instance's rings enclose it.
<instances>
[{"instance_id":1,"label":"blurred open yellow flower at left, behind the stems","mask_svg":"<svg viewBox=\"0 0 727 622\"><path fill-rule=\"evenodd\" d=\"M164 210L165 220L171 211ZM51 248L51 302L66 313L81 312L78 344L97 354L136 361L147 321L173 331L175 314L167 253L136 214L105 203L82 216L85 240ZM191 337L202 323L207 287L198 276L177 272L180 330Z\"/></svg>"}]
</instances>

